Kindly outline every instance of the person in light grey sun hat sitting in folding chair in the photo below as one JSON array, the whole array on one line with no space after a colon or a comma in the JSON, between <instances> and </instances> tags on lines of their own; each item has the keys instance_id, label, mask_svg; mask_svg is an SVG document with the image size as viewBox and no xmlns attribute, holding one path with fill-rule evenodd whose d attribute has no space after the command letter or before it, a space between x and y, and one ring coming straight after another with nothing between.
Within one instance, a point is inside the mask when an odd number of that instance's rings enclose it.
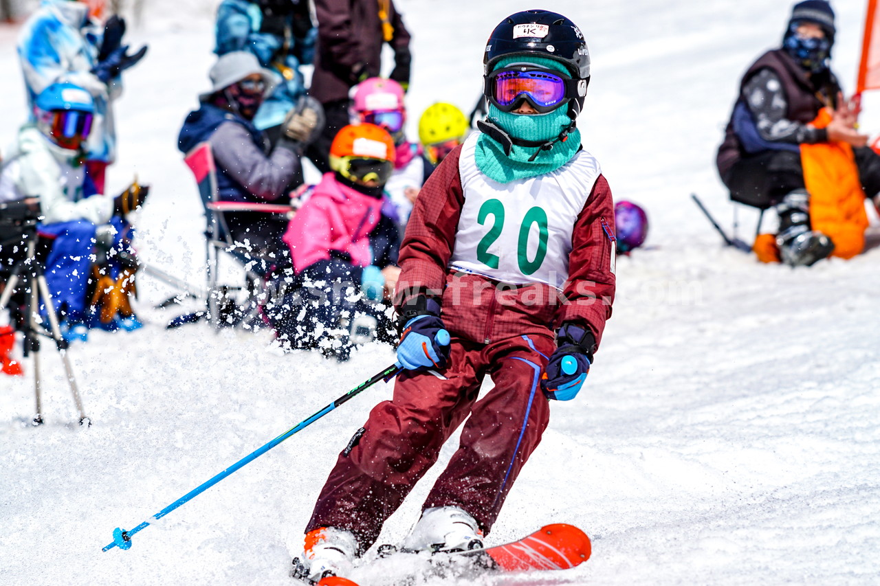
<instances>
[{"instance_id":1,"label":"person in light grey sun hat sitting in folding chair","mask_svg":"<svg viewBox=\"0 0 880 586\"><path fill-rule=\"evenodd\" d=\"M209 77L211 90L199 97L199 108L187 115L178 148L187 153L200 143L210 144L220 201L290 202L290 189L303 182L303 150L323 128L320 104L301 96L286 115L281 137L270 150L253 117L278 77L246 51L221 55ZM287 253L281 237L287 219L277 216L249 211L224 215L235 242L254 253L283 257Z\"/></svg>"}]
</instances>

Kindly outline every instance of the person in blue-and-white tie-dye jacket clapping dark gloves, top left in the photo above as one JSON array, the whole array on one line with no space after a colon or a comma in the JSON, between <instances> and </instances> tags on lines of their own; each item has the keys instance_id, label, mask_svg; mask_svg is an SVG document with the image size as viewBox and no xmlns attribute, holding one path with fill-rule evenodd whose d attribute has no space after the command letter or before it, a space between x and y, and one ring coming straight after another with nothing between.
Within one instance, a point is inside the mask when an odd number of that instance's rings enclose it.
<instances>
[{"instance_id":1,"label":"person in blue-and-white tie-dye jacket clapping dark gloves, top left","mask_svg":"<svg viewBox=\"0 0 880 586\"><path fill-rule=\"evenodd\" d=\"M92 95L94 118L85 165L99 192L104 191L107 165L116 159L113 101L122 91L121 72L139 62L147 50L142 47L129 54L128 45L122 44L125 30L125 20L116 16L99 26L85 2L42 0L18 36L31 112L37 96L51 84L76 84Z\"/></svg>"}]
</instances>

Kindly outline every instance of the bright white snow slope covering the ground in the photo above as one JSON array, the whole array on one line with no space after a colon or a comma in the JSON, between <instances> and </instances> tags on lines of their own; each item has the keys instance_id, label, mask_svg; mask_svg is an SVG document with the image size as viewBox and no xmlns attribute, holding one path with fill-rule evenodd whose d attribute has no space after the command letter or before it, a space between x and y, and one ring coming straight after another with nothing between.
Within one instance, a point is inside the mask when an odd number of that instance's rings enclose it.
<instances>
[{"instance_id":1,"label":"bright white snow slope covering the ground","mask_svg":"<svg viewBox=\"0 0 880 586\"><path fill-rule=\"evenodd\" d=\"M139 222L143 258L201 282L200 204L175 140L208 84L214 3L148 4L132 38L149 40L150 55L126 77L109 184L120 189L133 172L152 184ZM414 33L413 132L436 99L473 106L492 26L533 7L398 4ZM616 198L644 205L652 226L649 246L619 260L614 315L587 387L554 404L489 536L501 543L568 522L593 538L593 558L537 581L479 583L880 582L880 250L811 269L762 266L722 248L688 198L703 195L730 225L715 148L739 75L778 42L790 4L545 6L573 18L590 43L584 146ZM851 87L864 7L835 9L835 70ZM0 26L2 143L23 117L15 36ZM880 99L866 102L862 121L876 133ZM753 218L741 210L744 236ZM290 429L391 363L392 351L366 348L340 366L282 355L264 333L168 332L162 326L179 310L151 304L171 290L147 276L139 283L148 326L94 333L70 350L91 429L71 425L53 351L43 353L41 428L28 425L31 364L26 379L0 378L0 583L289 584L290 554L326 473L389 387L364 392L175 510L128 552L100 548L114 527L132 528ZM430 480L381 540L403 537ZM395 582L371 568L352 577Z\"/></svg>"}]
</instances>

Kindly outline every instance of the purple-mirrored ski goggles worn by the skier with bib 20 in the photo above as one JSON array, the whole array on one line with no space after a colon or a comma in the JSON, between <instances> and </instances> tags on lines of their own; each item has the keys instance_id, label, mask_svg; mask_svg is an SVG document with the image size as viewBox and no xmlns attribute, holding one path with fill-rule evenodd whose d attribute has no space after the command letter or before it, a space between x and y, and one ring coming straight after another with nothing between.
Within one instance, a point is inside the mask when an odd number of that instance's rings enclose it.
<instances>
[{"instance_id":1,"label":"purple-mirrored ski goggles worn by the skier with bib 20","mask_svg":"<svg viewBox=\"0 0 880 586\"><path fill-rule=\"evenodd\" d=\"M485 79L486 97L502 112L516 110L527 101L539 114L546 114L578 95L578 80L538 67L495 70Z\"/></svg>"}]
</instances>

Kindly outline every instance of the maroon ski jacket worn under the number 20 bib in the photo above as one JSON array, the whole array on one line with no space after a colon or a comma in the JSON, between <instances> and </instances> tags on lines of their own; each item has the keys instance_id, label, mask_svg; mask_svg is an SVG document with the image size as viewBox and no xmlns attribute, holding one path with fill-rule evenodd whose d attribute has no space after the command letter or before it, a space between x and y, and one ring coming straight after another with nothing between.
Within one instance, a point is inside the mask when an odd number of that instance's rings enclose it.
<instances>
[{"instance_id":1,"label":"maroon ski jacket worn under the number 20 bib","mask_svg":"<svg viewBox=\"0 0 880 586\"><path fill-rule=\"evenodd\" d=\"M431 174L415 201L400 248L398 308L418 291L443 297L443 319L454 335L488 344L520 335L554 336L562 322L587 326L596 342L611 317L614 203L599 175L577 218L568 257L568 282L560 292L550 285L495 282L481 275L448 270L458 218L465 198L458 173L457 147ZM603 225L604 224L604 225Z\"/></svg>"}]
</instances>

